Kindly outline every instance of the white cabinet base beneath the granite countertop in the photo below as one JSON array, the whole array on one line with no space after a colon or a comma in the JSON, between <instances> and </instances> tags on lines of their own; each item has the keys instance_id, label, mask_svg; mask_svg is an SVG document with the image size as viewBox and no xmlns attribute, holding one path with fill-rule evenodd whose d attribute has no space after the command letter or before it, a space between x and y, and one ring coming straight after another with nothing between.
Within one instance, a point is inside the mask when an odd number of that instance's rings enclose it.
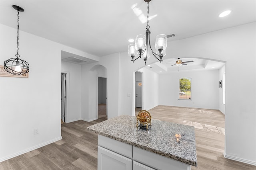
<instances>
[{"instance_id":1,"label":"white cabinet base beneath the granite countertop","mask_svg":"<svg viewBox=\"0 0 256 170\"><path fill-rule=\"evenodd\" d=\"M190 165L98 135L98 170L190 170Z\"/></svg>"}]
</instances>

